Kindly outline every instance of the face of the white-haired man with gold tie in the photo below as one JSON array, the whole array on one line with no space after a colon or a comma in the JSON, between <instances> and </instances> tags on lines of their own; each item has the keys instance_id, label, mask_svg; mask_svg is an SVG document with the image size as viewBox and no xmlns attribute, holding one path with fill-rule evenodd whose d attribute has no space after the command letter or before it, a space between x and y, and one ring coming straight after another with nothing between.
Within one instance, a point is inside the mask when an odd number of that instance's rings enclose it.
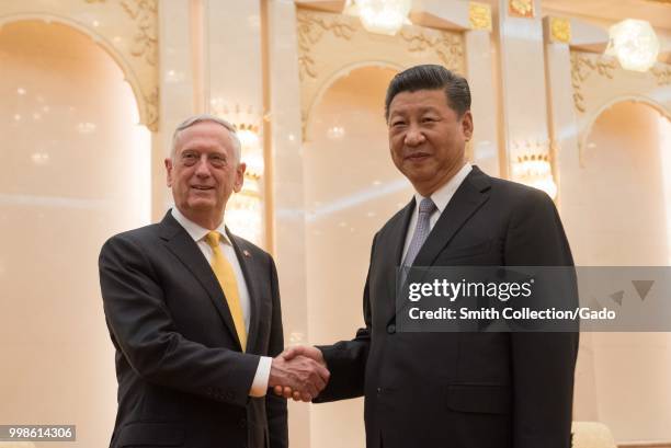
<instances>
[{"instance_id":1,"label":"face of the white-haired man with gold tie","mask_svg":"<svg viewBox=\"0 0 671 448\"><path fill-rule=\"evenodd\" d=\"M196 222L220 222L230 194L242 187L244 168L236 162L228 129L214 122L182 130L174 159L166 159L174 204Z\"/></svg>"}]
</instances>

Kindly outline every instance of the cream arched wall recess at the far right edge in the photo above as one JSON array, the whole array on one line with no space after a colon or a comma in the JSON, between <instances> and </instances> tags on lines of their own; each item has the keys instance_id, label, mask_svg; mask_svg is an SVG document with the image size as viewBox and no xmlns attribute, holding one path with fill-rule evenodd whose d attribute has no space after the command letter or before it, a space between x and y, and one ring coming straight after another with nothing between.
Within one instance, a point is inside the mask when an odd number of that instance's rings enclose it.
<instances>
[{"instance_id":1,"label":"cream arched wall recess at the far right edge","mask_svg":"<svg viewBox=\"0 0 671 448\"><path fill-rule=\"evenodd\" d=\"M671 123L658 108L626 100L599 115L561 197L577 265L669 265L670 169ZM578 366L577 402L617 443L671 439L669 334L583 334Z\"/></svg>"}]
</instances>

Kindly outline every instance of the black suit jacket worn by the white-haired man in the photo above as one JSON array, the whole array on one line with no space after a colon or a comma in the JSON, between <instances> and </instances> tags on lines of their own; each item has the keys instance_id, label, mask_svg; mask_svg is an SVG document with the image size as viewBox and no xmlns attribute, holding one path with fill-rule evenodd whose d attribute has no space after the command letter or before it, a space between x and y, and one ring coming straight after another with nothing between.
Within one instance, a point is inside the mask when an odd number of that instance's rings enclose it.
<instances>
[{"instance_id":1,"label":"black suit jacket worn by the white-haired man","mask_svg":"<svg viewBox=\"0 0 671 448\"><path fill-rule=\"evenodd\" d=\"M170 212L103 245L118 380L112 448L288 446L286 400L249 397L260 355L284 348L275 265L229 237L250 294L247 353L207 260Z\"/></svg>"}]
</instances>

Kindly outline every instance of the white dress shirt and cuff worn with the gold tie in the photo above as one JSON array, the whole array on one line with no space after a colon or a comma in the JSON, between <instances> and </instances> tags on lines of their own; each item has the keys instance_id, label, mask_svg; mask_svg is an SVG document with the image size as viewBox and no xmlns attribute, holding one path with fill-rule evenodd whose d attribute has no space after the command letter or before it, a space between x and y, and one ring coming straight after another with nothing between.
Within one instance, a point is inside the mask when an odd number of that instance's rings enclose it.
<instances>
[{"instance_id":1,"label":"white dress shirt and cuff worn with the gold tie","mask_svg":"<svg viewBox=\"0 0 671 448\"><path fill-rule=\"evenodd\" d=\"M197 223L191 221L186 218L177 207L172 207L172 217L186 230L186 233L195 241L201 252L207 260L207 263L212 264L212 257L214 255L214 251L205 241L205 237L209 233L208 229L198 226ZM236 280L238 283L238 294L240 296L240 308L242 308L242 317L244 319L244 328L246 331L249 330L250 322L250 299L249 299L249 289L247 288L247 283L244 282L244 276L242 275L242 268L240 267L240 262L238 261L238 256L236 255L236 250L228 238L228 233L226 233L226 226L224 222L219 225L217 229L215 229L221 234L219 239L219 245L221 246L221 252L224 252L224 256L231 264L234 273L236 274ZM261 360L259 361L259 367L257 367L257 374L254 375L254 380L252 381L251 389L249 391L250 397L263 397L268 391L268 381L270 378L270 370L273 358L269 356L261 356Z\"/></svg>"}]
</instances>

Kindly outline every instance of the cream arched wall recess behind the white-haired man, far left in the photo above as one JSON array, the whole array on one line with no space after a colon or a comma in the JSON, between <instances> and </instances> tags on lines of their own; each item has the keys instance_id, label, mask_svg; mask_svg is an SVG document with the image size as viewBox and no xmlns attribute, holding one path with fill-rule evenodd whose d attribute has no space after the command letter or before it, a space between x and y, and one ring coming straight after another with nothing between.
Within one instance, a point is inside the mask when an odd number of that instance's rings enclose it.
<instances>
[{"instance_id":1,"label":"cream arched wall recess behind the white-haired man, far left","mask_svg":"<svg viewBox=\"0 0 671 448\"><path fill-rule=\"evenodd\" d=\"M5 422L109 444L114 352L104 240L149 221L150 134L115 61L72 27L0 28L0 383Z\"/></svg>"}]
</instances>

